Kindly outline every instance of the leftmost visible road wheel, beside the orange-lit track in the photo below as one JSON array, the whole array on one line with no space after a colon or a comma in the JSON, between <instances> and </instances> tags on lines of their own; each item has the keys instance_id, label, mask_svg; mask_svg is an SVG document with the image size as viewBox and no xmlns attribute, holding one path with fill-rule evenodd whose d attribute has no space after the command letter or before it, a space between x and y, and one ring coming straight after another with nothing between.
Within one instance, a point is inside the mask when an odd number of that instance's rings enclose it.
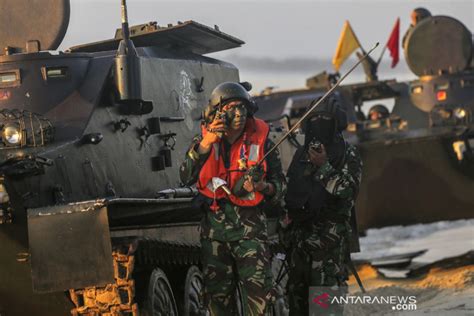
<instances>
[{"instance_id":1,"label":"leftmost visible road wheel, beside the orange-lit track","mask_svg":"<svg viewBox=\"0 0 474 316\"><path fill-rule=\"evenodd\" d=\"M173 290L163 270L156 268L150 276L147 309L149 316L177 316Z\"/></svg>"}]
</instances>

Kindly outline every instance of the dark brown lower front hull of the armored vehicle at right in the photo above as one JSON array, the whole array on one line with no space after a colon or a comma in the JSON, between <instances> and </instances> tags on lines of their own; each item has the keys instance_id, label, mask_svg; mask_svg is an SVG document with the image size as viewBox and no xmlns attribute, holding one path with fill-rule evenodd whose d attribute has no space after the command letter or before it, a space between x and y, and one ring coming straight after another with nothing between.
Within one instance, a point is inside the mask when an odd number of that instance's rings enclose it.
<instances>
[{"instance_id":1,"label":"dark brown lower front hull of the armored vehicle at right","mask_svg":"<svg viewBox=\"0 0 474 316\"><path fill-rule=\"evenodd\" d=\"M473 165L464 169L457 159L453 143L460 139L460 133L446 132L360 144L360 228L471 218Z\"/></svg>"}]
</instances>

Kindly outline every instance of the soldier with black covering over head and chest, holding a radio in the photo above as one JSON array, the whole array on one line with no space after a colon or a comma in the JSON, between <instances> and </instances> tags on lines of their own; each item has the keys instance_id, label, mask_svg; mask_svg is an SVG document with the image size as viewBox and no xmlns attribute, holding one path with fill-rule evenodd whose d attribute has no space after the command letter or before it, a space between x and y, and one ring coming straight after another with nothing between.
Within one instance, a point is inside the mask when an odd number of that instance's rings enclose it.
<instances>
[{"instance_id":1,"label":"soldier with black covering over head and chest, holding a radio","mask_svg":"<svg viewBox=\"0 0 474 316\"><path fill-rule=\"evenodd\" d=\"M288 169L289 226L282 241L289 249L290 315L308 315L308 295L342 295L347 287L350 217L362 163L342 136L346 127L346 113L335 98L321 103L305 121L304 145ZM309 293L310 286L317 290ZM321 312L342 315L342 306Z\"/></svg>"}]
</instances>

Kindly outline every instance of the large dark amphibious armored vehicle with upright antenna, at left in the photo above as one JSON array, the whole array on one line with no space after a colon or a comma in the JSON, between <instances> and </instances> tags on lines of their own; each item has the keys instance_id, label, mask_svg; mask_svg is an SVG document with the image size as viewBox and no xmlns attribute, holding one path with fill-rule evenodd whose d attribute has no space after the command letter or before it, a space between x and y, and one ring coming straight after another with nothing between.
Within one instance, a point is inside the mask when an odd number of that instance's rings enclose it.
<instances>
[{"instance_id":1,"label":"large dark amphibious armored vehicle with upright antenna, at left","mask_svg":"<svg viewBox=\"0 0 474 316\"><path fill-rule=\"evenodd\" d=\"M122 10L114 38L54 52L69 0L0 3L2 316L199 312L200 213L178 167L212 89L239 80L204 55L243 42L129 28Z\"/></svg>"}]
</instances>

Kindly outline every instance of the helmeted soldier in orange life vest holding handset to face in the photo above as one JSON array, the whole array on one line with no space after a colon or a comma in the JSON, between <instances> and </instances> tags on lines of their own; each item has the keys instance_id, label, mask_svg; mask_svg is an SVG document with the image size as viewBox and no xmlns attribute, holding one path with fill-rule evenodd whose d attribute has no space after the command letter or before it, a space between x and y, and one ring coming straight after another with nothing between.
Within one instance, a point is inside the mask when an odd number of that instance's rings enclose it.
<instances>
[{"instance_id":1,"label":"helmeted soldier in orange life vest holding handset to face","mask_svg":"<svg viewBox=\"0 0 474 316\"><path fill-rule=\"evenodd\" d=\"M240 286L245 315L263 315L271 289L263 202L279 203L285 178L278 152L255 168L273 143L269 127L243 85L225 82L211 94L202 133L180 169L183 183L196 183L204 210L201 246L205 305L211 315L235 315ZM252 168L254 167L254 168ZM249 175L249 170L258 170Z\"/></svg>"}]
</instances>

